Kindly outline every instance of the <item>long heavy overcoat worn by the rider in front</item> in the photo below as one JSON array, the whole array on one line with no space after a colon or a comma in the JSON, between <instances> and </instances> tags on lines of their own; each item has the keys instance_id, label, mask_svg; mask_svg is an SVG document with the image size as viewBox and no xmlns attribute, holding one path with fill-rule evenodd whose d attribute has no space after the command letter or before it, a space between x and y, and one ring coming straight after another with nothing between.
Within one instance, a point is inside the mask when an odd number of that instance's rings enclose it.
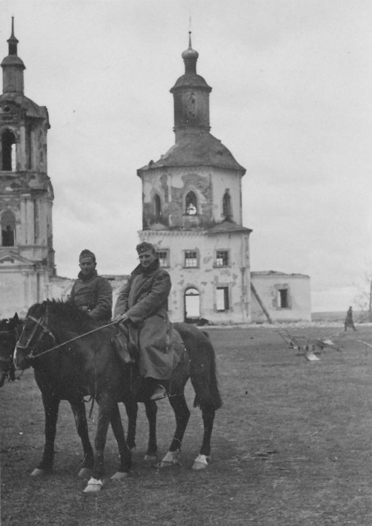
<instances>
[{"instance_id":1,"label":"long heavy overcoat worn by the rider in front","mask_svg":"<svg viewBox=\"0 0 372 526\"><path fill-rule=\"evenodd\" d=\"M114 318L127 313L138 334L139 373L170 379L174 366L172 327L167 312L170 275L155 261L150 269L137 266L120 290Z\"/></svg>"}]
</instances>

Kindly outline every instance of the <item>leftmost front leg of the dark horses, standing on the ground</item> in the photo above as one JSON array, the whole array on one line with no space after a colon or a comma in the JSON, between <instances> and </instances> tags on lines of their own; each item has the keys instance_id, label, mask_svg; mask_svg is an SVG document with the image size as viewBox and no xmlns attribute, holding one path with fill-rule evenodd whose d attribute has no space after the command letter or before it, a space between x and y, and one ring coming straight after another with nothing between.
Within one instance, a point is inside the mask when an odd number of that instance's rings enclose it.
<instances>
[{"instance_id":1,"label":"leftmost front leg of the dark horses, standing on the ground","mask_svg":"<svg viewBox=\"0 0 372 526\"><path fill-rule=\"evenodd\" d=\"M42 461L31 473L31 477L39 477L40 475L51 473L53 470L54 440L55 431L57 429L59 399L55 399L53 395L46 395L42 393L42 403L44 405L45 414L44 451L42 453Z\"/></svg>"}]
</instances>

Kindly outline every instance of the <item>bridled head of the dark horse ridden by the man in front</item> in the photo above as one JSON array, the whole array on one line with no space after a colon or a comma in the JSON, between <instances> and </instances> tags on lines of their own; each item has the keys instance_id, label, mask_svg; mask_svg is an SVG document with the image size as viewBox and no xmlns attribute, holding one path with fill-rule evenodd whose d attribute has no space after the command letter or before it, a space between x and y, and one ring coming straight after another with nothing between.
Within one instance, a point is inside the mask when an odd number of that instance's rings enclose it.
<instances>
[{"instance_id":1,"label":"bridled head of the dark horse ridden by the man in front","mask_svg":"<svg viewBox=\"0 0 372 526\"><path fill-rule=\"evenodd\" d=\"M49 305L51 302L47 300L29 308L14 351L16 369L29 368L38 354L55 344L55 336L49 327Z\"/></svg>"}]
</instances>

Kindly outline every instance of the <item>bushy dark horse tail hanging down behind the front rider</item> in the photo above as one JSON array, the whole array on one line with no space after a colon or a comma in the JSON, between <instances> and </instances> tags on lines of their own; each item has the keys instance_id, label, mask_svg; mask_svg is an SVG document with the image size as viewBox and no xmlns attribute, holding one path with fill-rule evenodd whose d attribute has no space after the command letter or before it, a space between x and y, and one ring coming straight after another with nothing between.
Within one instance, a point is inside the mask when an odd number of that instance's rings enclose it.
<instances>
[{"instance_id":1,"label":"bushy dark horse tail hanging down behind the front rider","mask_svg":"<svg viewBox=\"0 0 372 526\"><path fill-rule=\"evenodd\" d=\"M222 407L218 389L215 350L204 331L186 323L174 323L190 360L190 379L195 390L194 408L217 410Z\"/></svg>"}]
</instances>

